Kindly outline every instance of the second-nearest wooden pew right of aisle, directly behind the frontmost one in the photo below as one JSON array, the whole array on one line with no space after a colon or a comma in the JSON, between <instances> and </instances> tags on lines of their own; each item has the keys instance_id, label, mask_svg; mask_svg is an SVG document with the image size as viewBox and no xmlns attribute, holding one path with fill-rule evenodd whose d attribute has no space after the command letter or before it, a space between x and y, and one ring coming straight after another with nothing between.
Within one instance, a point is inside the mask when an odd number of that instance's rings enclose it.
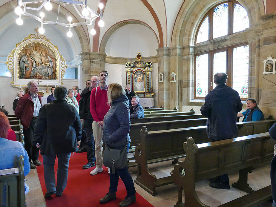
<instances>
[{"instance_id":1,"label":"second-nearest wooden pew right of aisle, directly behind the frontmost one","mask_svg":"<svg viewBox=\"0 0 276 207\"><path fill-rule=\"evenodd\" d=\"M237 137L268 132L275 122L272 120L239 122ZM196 144L210 142L207 138L206 126L188 127L180 129L147 131L145 126L140 131L141 143L135 148L135 162L137 163L137 177L134 180L151 195L156 195L155 188L173 183L172 177L157 179L148 170L148 164L185 157L183 142L193 137ZM129 167L135 163L129 162Z\"/></svg>"}]
</instances>

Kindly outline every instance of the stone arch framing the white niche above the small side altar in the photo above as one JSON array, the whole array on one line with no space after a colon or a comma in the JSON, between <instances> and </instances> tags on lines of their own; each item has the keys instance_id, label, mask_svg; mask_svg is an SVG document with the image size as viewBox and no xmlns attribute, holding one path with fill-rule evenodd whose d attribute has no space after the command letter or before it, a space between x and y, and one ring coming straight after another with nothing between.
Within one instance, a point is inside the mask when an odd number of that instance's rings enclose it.
<instances>
[{"instance_id":1,"label":"stone arch framing the white niche above the small side altar","mask_svg":"<svg viewBox=\"0 0 276 207\"><path fill-rule=\"evenodd\" d=\"M105 34L102 37L102 41L101 41L100 48L99 48L100 53L105 53L105 46L106 46L106 43L107 43L108 39L110 38L110 36L117 29L119 29L120 27L122 27L126 24L141 24L145 27L148 27L154 33L154 35L156 37L156 40L157 40L158 47L160 46L160 42L159 42L159 39L157 37L157 34L155 33L155 31L148 24L146 24L145 22L139 21L139 20L129 19L129 20L124 20L124 21L118 22L118 23L116 23L116 24L114 24L114 25L112 25L111 27L108 28L108 30L105 32Z\"/></svg>"}]
</instances>

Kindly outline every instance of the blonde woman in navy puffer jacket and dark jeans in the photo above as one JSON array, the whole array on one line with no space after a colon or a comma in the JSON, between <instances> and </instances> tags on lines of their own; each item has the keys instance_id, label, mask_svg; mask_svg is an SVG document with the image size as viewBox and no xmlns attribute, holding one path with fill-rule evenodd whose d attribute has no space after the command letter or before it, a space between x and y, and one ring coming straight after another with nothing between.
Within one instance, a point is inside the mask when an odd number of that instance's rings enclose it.
<instances>
[{"instance_id":1,"label":"blonde woman in navy puffer jacket and dark jeans","mask_svg":"<svg viewBox=\"0 0 276 207\"><path fill-rule=\"evenodd\" d=\"M111 149L123 149L128 143L130 130L129 101L124 89L117 83L111 83L107 91L108 103L111 107L104 117L102 140ZM126 166L122 169L115 169L115 174L110 173L109 192L100 199L100 203L116 199L119 176L128 193L119 206L129 206L136 201L134 183Z\"/></svg>"}]
</instances>

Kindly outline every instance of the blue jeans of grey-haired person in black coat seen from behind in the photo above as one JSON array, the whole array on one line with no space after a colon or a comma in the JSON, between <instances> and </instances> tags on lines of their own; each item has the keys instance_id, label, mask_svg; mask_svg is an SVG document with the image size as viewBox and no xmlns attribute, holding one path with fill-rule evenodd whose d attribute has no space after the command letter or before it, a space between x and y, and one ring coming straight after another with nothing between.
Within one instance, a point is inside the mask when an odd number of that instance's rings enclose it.
<instances>
[{"instance_id":1,"label":"blue jeans of grey-haired person in black coat seen from behind","mask_svg":"<svg viewBox=\"0 0 276 207\"><path fill-rule=\"evenodd\" d=\"M55 160L58 158L57 177L55 179ZM56 191L61 195L67 185L68 166L71 153L59 153L56 155L42 155L44 166L44 179L47 193Z\"/></svg>"}]
</instances>

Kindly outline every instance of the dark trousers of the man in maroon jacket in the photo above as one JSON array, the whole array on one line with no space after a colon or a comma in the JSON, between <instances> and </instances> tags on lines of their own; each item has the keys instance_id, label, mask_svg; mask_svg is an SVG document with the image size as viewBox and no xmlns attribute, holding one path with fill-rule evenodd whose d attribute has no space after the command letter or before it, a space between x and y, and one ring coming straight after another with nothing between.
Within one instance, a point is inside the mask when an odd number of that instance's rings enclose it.
<instances>
[{"instance_id":1,"label":"dark trousers of the man in maroon jacket","mask_svg":"<svg viewBox=\"0 0 276 207\"><path fill-rule=\"evenodd\" d=\"M28 153L29 161L38 159L39 157L39 148L36 148L36 146L33 146L33 133L34 133L34 125L36 124L36 119L32 119L29 128L27 130L23 129L23 134L25 137L25 150ZM26 162L27 160L25 160Z\"/></svg>"}]
</instances>

